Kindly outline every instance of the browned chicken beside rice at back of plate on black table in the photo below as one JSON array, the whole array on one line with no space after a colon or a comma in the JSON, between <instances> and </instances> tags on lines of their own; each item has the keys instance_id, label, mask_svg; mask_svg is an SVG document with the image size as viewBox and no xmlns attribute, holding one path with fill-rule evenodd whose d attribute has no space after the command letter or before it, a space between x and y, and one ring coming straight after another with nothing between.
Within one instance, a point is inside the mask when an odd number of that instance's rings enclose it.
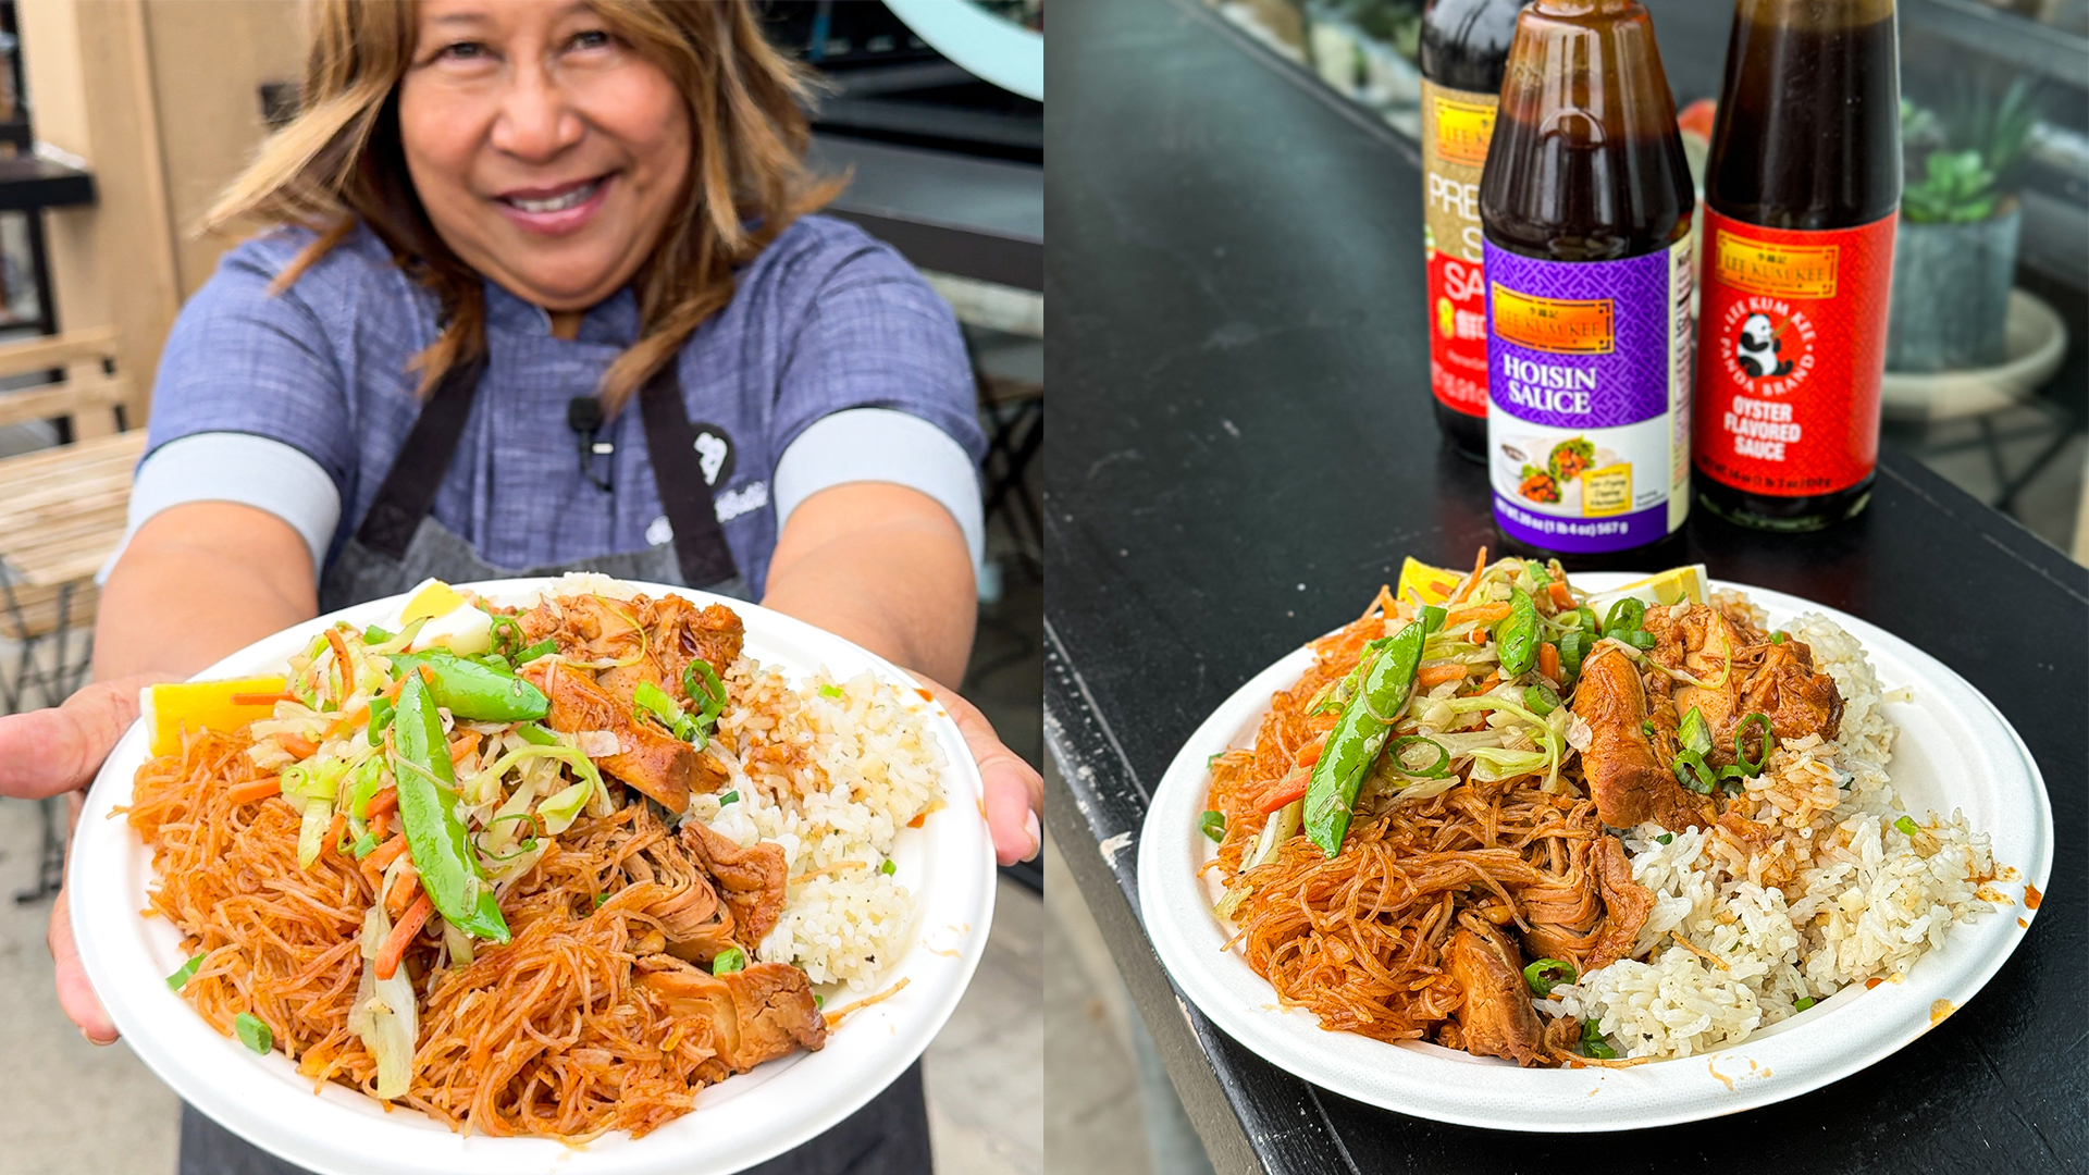
<instances>
[{"instance_id":1,"label":"browned chicken beside rice at back of plate on black table","mask_svg":"<svg viewBox=\"0 0 2089 1175\"><path fill-rule=\"evenodd\" d=\"M1600 642L1573 694L1590 730L1581 769L1604 824L1703 828L1719 817L1711 780L1732 778L1721 771L1759 767L1771 738L1840 730L1842 694L1805 642L1711 604L1648 608L1644 631L1644 652Z\"/></svg>"}]
</instances>

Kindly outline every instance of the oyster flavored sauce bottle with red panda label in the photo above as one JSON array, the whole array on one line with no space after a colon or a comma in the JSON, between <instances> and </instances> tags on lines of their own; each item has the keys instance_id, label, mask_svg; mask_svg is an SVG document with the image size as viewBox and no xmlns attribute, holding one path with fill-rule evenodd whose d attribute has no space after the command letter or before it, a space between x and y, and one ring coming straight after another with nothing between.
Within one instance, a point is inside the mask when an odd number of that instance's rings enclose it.
<instances>
[{"instance_id":1,"label":"oyster flavored sauce bottle with red panda label","mask_svg":"<svg viewBox=\"0 0 2089 1175\"><path fill-rule=\"evenodd\" d=\"M1738 0L1705 171L1698 500L1807 531L1878 468L1901 205L1893 0Z\"/></svg>"}]
</instances>

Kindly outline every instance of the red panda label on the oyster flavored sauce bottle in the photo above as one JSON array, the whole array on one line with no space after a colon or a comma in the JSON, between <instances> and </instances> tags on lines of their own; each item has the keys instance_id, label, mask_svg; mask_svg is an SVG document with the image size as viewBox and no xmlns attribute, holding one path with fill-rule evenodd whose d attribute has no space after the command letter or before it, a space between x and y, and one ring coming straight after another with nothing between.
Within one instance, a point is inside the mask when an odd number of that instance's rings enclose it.
<instances>
[{"instance_id":1,"label":"red panda label on the oyster flavored sauce bottle","mask_svg":"<svg viewBox=\"0 0 2089 1175\"><path fill-rule=\"evenodd\" d=\"M1692 445L1705 475L1774 498L1872 475L1895 220L1784 230L1705 209Z\"/></svg>"}]
</instances>

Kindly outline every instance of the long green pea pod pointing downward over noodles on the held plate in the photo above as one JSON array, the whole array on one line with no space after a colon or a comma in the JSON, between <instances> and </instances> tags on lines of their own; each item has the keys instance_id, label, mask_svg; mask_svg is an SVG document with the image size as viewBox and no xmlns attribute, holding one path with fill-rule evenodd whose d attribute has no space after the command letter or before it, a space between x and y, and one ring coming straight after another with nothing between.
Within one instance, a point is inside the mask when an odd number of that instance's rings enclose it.
<instances>
[{"instance_id":1,"label":"long green pea pod pointing downward over noodles on the held plate","mask_svg":"<svg viewBox=\"0 0 2089 1175\"><path fill-rule=\"evenodd\" d=\"M455 711L451 711L455 713ZM493 943L508 941L501 903L478 870L478 857L457 820L457 776L443 740L435 696L412 673L393 717L393 776L399 782L399 824L428 901L455 928Z\"/></svg>"}]
</instances>

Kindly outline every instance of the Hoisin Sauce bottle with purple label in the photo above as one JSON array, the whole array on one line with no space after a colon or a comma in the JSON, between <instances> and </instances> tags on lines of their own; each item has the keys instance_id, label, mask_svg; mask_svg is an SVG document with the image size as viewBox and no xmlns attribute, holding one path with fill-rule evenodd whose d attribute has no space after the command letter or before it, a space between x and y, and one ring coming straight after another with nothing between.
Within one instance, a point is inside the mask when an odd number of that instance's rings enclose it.
<instances>
[{"instance_id":1,"label":"Hoisin Sauce bottle with purple label","mask_svg":"<svg viewBox=\"0 0 2089 1175\"><path fill-rule=\"evenodd\" d=\"M1690 167L1636 0L1517 19L1479 184L1502 533L1602 554L1690 514Z\"/></svg>"}]
</instances>

